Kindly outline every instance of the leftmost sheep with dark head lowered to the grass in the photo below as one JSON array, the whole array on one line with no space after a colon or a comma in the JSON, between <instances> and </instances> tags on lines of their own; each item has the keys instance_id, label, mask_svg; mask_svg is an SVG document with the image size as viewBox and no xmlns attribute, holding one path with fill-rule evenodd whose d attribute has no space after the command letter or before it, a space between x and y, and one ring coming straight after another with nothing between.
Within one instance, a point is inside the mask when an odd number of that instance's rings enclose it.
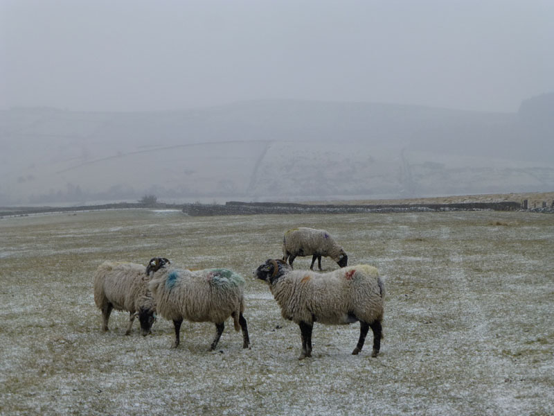
<instances>
[{"instance_id":1,"label":"leftmost sheep with dark head lowered to the grass","mask_svg":"<svg viewBox=\"0 0 554 416\"><path fill-rule=\"evenodd\" d=\"M136 316L143 336L151 333L156 319L156 304L148 290L148 275L144 266L136 263L105 261L94 274L94 303L102 311L102 330L108 331L109 315L113 309L129 311L125 335L131 333Z\"/></svg>"}]
</instances>

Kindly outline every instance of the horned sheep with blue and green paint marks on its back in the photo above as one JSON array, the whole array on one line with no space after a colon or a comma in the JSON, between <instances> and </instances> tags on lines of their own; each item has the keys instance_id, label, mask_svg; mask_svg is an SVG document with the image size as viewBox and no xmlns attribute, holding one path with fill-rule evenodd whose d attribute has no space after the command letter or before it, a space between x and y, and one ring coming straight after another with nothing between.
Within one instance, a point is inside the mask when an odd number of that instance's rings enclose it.
<instances>
[{"instance_id":1,"label":"horned sheep with blue and green paint marks on its back","mask_svg":"<svg viewBox=\"0 0 554 416\"><path fill-rule=\"evenodd\" d=\"M213 351L224 330L224 322L233 317L235 331L242 329L242 347L248 348L247 320L244 319L244 278L231 270L212 268L205 270L170 269L167 259L154 257L146 273L152 273L149 288L163 318L175 326L175 342L179 345L179 331L184 319L190 322L214 322L216 334L210 345Z\"/></svg>"}]
</instances>

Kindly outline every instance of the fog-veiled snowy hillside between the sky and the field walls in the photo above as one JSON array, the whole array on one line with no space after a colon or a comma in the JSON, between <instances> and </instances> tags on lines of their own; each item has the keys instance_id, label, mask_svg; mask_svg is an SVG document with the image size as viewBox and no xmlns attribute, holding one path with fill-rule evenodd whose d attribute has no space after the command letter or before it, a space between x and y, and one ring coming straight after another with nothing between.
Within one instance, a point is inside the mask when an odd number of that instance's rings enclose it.
<instances>
[{"instance_id":1,"label":"fog-veiled snowy hillside between the sky and the field walls","mask_svg":"<svg viewBox=\"0 0 554 416\"><path fill-rule=\"evenodd\" d=\"M551 96L513 114L310 101L2 111L0 205L551 191Z\"/></svg>"}]
</instances>

